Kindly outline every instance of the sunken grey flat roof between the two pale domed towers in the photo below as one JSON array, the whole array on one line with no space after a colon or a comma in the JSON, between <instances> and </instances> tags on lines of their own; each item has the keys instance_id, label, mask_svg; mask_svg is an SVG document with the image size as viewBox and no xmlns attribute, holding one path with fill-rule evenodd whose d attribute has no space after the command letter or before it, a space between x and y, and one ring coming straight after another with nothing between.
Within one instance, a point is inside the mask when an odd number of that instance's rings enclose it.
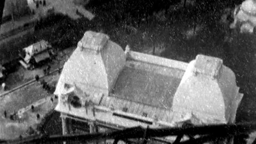
<instances>
[{"instance_id":1,"label":"sunken grey flat roof between the two pale domed towers","mask_svg":"<svg viewBox=\"0 0 256 144\"><path fill-rule=\"evenodd\" d=\"M184 70L140 61L127 61L112 91L116 97L171 108ZM111 97L111 95L110 95Z\"/></svg>"}]
</instances>

